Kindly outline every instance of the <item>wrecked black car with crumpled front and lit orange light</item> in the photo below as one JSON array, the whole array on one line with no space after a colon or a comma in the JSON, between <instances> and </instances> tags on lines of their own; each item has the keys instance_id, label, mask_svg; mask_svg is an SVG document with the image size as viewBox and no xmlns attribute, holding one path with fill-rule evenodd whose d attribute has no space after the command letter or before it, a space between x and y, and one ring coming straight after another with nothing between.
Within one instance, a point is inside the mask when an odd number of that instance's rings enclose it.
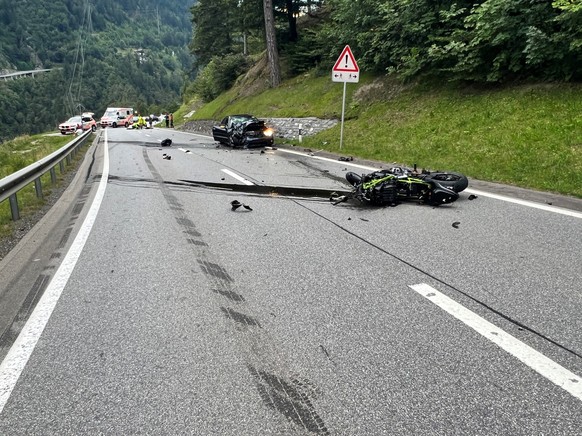
<instances>
[{"instance_id":1,"label":"wrecked black car with crumpled front and lit orange light","mask_svg":"<svg viewBox=\"0 0 582 436\"><path fill-rule=\"evenodd\" d=\"M229 115L212 127L215 141L231 147L265 147L274 143L274 131L265 122L248 114Z\"/></svg>"}]
</instances>

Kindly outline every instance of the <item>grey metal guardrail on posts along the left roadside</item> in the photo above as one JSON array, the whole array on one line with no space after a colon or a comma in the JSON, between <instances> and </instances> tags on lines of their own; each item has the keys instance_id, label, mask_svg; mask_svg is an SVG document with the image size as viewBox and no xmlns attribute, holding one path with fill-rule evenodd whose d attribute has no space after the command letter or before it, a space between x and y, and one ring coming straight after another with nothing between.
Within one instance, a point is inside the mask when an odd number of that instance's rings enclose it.
<instances>
[{"instance_id":1,"label":"grey metal guardrail on posts along the left roadside","mask_svg":"<svg viewBox=\"0 0 582 436\"><path fill-rule=\"evenodd\" d=\"M0 203L9 199L10 211L14 221L20 219L18 198L16 196L18 191L34 182L36 196L42 198L41 176L50 172L51 182L55 184L57 182L55 167L59 165L61 173L64 173L65 159L67 163L71 163L71 156L76 153L78 148L85 144L91 133L91 130L84 132L82 135L76 137L65 146L49 154L47 157L0 179Z\"/></svg>"}]
</instances>

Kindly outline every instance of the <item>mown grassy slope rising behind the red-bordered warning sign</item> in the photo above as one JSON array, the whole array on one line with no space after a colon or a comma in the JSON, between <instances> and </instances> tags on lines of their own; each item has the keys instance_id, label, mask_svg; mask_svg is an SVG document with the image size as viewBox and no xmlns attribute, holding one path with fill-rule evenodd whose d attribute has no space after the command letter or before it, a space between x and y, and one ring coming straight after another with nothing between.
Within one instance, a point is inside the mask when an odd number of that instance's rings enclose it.
<instances>
[{"instance_id":1,"label":"mown grassy slope rising behind the red-bordered warning sign","mask_svg":"<svg viewBox=\"0 0 582 436\"><path fill-rule=\"evenodd\" d=\"M191 119L240 112L339 119L342 92L330 77L304 75L250 96L233 88ZM342 149L339 124L302 146L582 198L582 84L475 89L362 77L347 94ZM183 106L176 121L190 110Z\"/></svg>"}]
</instances>

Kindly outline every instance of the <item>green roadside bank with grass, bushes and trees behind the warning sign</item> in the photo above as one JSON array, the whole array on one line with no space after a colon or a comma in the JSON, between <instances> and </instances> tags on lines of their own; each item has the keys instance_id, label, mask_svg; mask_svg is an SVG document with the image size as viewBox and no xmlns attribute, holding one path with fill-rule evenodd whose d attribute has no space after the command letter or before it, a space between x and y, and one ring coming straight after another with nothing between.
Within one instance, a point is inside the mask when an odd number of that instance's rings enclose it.
<instances>
[{"instance_id":1,"label":"green roadside bank with grass, bushes and trees behind the warning sign","mask_svg":"<svg viewBox=\"0 0 582 436\"><path fill-rule=\"evenodd\" d=\"M251 45L244 71L235 61L239 35L260 37L255 22L199 1L191 43L199 74L177 123L193 110L190 119L339 119L343 84L331 81L331 69L349 44L367 74L347 85L343 147L339 124L301 146L582 198L578 2L413 3L274 1L284 80L273 87L264 44ZM217 25L229 17L231 25Z\"/></svg>"}]
</instances>

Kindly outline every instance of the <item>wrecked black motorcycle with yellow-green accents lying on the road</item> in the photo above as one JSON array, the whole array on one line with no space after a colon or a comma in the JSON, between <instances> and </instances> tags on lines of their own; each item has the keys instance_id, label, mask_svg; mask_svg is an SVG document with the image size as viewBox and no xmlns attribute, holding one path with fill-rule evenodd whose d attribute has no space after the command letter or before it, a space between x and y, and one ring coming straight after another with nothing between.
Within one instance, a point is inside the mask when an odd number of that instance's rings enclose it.
<instances>
[{"instance_id":1,"label":"wrecked black motorcycle with yellow-green accents lying on the road","mask_svg":"<svg viewBox=\"0 0 582 436\"><path fill-rule=\"evenodd\" d=\"M359 175L346 174L346 180L354 187L347 195L331 198L334 205L351 198L374 206L396 206L402 200L416 200L420 204L439 206L459 198L469 181L466 176L453 172L420 171L405 167L392 167Z\"/></svg>"}]
</instances>

